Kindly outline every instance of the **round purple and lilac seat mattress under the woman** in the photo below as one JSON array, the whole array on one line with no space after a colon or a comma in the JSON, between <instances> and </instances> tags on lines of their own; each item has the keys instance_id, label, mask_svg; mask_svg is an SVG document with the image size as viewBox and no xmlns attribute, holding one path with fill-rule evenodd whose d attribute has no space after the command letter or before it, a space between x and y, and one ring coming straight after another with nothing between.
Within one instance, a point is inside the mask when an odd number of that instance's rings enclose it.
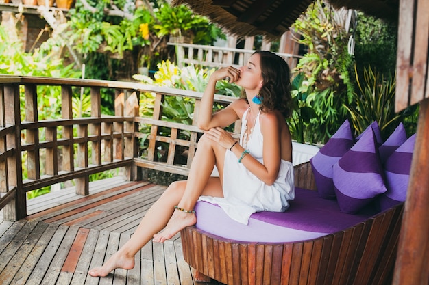
<instances>
[{"instance_id":1,"label":"round purple and lilac seat mattress under the woman","mask_svg":"<svg viewBox=\"0 0 429 285\"><path fill-rule=\"evenodd\" d=\"M295 188L295 200L286 212L254 213L247 226L215 204L199 201L195 206L196 226L205 232L235 241L270 243L305 241L345 230L376 214L373 208L365 210L358 215L341 213L335 200L299 188Z\"/></svg>"}]
</instances>

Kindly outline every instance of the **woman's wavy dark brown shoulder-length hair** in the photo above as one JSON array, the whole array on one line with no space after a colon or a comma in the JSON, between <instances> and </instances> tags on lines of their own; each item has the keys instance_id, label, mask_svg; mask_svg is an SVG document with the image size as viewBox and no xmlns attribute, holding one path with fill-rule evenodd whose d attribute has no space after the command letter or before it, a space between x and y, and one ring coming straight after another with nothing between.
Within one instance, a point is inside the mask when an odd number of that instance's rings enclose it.
<instances>
[{"instance_id":1,"label":"woman's wavy dark brown shoulder-length hair","mask_svg":"<svg viewBox=\"0 0 429 285\"><path fill-rule=\"evenodd\" d=\"M270 51L256 51L260 55L262 73L261 111L278 110L285 118L292 114L291 71L282 57ZM242 96L245 96L244 92Z\"/></svg>"}]
</instances>

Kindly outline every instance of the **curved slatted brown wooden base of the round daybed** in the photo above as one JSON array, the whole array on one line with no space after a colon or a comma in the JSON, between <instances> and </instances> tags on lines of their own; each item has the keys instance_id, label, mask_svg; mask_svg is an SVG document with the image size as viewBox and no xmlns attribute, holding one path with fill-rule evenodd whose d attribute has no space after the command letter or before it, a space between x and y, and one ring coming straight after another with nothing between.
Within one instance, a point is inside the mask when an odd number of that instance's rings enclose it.
<instances>
[{"instance_id":1,"label":"curved slatted brown wooden base of the round daybed","mask_svg":"<svg viewBox=\"0 0 429 285\"><path fill-rule=\"evenodd\" d=\"M315 190L310 163L295 166L295 186ZM195 226L181 232L195 279L225 284L391 284L403 204L356 226L308 241L245 243Z\"/></svg>"}]
</instances>

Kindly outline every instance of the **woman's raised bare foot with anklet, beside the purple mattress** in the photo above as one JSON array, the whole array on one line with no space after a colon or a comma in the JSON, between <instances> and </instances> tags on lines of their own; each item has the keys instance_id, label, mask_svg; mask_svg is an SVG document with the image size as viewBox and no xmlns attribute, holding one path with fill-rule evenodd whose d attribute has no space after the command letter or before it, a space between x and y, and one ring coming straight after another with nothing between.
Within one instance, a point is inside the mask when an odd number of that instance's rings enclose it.
<instances>
[{"instance_id":1,"label":"woman's raised bare foot with anklet, beside the purple mattress","mask_svg":"<svg viewBox=\"0 0 429 285\"><path fill-rule=\"evenodd\" d=\"M182 211L174 211L167 226L159 234L154 234L156 243L163 243L167 239L171 239L177 232L180 232L187 226L193 226L197 223L197 217L193 213L184 213Z\"/></svg>"}]
</instances>

